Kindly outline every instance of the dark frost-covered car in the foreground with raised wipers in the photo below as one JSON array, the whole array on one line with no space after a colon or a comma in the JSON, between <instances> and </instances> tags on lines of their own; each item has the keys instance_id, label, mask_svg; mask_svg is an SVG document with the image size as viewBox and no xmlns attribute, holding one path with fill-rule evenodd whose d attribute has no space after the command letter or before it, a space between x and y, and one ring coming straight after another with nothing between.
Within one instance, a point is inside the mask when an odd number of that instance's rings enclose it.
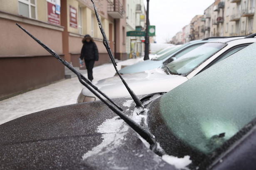
<instances>
[{"instance_id":1,"label":"dark frost-covered car in the foreground with raised wipers","mask_svg":"<svg viewBox=\"0 0 256 170\"><path fill-rule=\"evenodd\" d=\"M256 43L164 95L141 96L144 107L114 99L156 148L102 101L87 102L1 124L1 168L254 169L255 53Z\"/></svg>"}]
</instances>

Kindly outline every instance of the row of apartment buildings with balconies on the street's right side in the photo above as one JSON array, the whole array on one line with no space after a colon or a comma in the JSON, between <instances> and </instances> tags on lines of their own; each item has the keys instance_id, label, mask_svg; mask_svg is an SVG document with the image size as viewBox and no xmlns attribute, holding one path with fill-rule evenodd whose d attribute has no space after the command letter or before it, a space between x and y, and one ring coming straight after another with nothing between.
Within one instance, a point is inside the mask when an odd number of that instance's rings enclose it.
<instances>
[{"instance_id":1,"label":"row of apartment buildings with balconies on the street's right side","mask_svg":"<svg viewBox=\"0 0 256 170\"><path fill-rule=\"evenodd\" d=\"M255 1L215 0L204 10L201 23L199 23L200 15L191 19L190 40L256 33ZM184 28L182 30L184 32ZM185 32L183 34L185 35Z\"/></svg>"}]
</instances>

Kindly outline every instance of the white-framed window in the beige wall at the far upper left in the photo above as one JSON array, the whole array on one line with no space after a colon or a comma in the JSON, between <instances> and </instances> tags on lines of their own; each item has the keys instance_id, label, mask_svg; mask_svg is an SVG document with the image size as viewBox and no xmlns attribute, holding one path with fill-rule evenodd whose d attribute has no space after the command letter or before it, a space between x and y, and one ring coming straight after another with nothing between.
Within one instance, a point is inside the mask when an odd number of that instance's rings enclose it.
<instances>
[{"instance_id":1,"label":"white-framed window in the beige wall at the far upper left","mask_svg":"<svg viewBox=\"0 0 256 170\"><path fill-rule=\"evenodd\" d=\"M37 19L36 0L19 0L19 15Z\"/></svg>"}]
</instances>

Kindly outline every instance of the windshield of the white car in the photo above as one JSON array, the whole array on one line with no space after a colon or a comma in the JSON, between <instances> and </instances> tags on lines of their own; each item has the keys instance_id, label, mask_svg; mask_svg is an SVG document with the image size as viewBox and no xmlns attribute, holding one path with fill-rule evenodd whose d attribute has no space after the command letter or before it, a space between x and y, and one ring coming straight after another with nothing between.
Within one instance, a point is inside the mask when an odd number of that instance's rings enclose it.
<instances>
[{"instance_id":1,"label":"windshield of the white car","mask_svg":"<svg viewBox=\"0 0 256 170\"><path fill-rule=\"evenodd\" d=\"M208 59L214 53L222 49L226 44L224 43L206 43L198 48L184 54L183 56L177 58L171 63L167 64L167 67L171 73L186 75L190 71L194 70L203 61ZM166 70L166 66L164 68Z\"/></svg>"}]
</instances>

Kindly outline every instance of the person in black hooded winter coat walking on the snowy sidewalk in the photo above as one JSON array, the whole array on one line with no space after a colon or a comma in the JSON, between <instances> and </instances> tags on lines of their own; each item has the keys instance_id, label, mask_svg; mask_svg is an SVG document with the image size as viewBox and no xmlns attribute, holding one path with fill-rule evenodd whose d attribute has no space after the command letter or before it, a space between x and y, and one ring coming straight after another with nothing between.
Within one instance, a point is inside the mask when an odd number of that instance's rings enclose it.
<instances>
[{"instance_id":1,"label":"person in black hooded winter coat walking on the snowy sidewalk","mask_svg":"<svg viewBox=\"0 0 256 170\"><path fill-rule=\"evenodd\" d=\"M82 39L83 47L81 50L81 56L80 59L85 59L85 66L87 69L88 79L90 81L93 80L92 76L92 68L95 61L99 60L99 52L97 49L97 46L95 42L93 41L92 37L90 35L85 35L85 37Z\"/></svg>"}]
</instances>

